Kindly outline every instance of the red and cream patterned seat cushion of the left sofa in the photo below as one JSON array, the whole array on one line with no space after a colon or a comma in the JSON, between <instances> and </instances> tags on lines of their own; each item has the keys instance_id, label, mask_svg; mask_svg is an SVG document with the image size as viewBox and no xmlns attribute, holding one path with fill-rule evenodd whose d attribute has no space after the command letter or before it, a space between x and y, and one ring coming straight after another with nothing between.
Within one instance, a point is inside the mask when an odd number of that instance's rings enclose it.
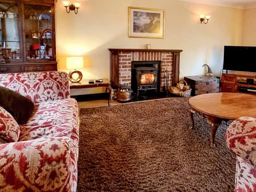
<instances>
[{"instance_id":1,"label":"red and cream patterned seat cushion of the left sofa","mask_svg":"<svg viewBox=\"0 0 256 192\"><path fill-rule=\"evenodd\" d=\"M68 137L77 126L78 105L74 98L35 104L26 124L20 125L20 141L55 136ZM76 122L75 122L76 121Z\"/></svg>"}]
</instances>

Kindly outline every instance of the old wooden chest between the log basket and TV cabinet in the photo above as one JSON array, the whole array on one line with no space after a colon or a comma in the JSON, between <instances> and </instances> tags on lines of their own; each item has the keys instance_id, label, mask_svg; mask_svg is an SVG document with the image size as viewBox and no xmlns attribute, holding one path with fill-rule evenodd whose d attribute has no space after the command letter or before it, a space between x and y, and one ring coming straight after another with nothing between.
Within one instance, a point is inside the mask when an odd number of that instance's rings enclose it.
<instances>
[{"instance_id":1,"label":"old wooden chest between the log basket and TV cabinet","mask_svg":"<svg viewBox=\"0 0 256 192\"><path fill-rule=\"evenodd\" d=\"M191 86L191 95L219 92L220 80L209 76L187 76L184 80Z\"/></svg>"}]
</instances>

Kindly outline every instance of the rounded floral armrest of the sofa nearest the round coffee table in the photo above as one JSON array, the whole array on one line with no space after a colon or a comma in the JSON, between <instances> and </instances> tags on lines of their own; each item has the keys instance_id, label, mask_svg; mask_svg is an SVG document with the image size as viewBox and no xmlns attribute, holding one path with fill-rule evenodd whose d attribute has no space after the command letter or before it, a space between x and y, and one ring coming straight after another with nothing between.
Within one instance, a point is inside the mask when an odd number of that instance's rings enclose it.
<instances>
[{"instance_id":1,"label":"rounded floral armrest of the sofa nearest the round coffee table","mask_svg":"<svg viewBox=\"0 0 256 192\"><path fill-rule=\"evenodd\" d=\"M241 117L227 129L226 143L230 151L256 168L256 119Z\"/></svg>"}]
</instances>

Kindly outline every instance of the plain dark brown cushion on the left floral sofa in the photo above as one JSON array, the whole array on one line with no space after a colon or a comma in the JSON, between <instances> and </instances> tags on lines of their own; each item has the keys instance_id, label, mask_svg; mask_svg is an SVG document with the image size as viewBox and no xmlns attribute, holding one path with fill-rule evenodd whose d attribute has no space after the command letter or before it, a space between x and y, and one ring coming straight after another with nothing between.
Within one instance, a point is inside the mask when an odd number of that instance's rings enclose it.
<instances>
[{"instance_id":1,"label":"plain dark brown cushion on the left floral sofa","mask_svg":"<svg viewBox=\"0 0 256 192\"><path fill-rule=\"evenodd\" d=\"M28 121L34 108L34 103L21 94L0 86L0 106L7 110L21 125Z\"/></svg>"}]
</instances>

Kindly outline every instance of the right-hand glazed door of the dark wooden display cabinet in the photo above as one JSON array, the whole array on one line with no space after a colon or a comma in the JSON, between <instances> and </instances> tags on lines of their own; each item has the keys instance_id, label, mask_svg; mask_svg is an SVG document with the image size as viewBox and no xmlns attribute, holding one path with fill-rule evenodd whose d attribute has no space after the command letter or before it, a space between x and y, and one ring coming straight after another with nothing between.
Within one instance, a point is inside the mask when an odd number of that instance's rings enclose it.
<instances>
[{"instance_id":1,"label":"right-hand glazed door of the dark wooden display cabinet","mask_svg":"<svg viewBox=\"0 0 256 192\"><path fill-rule=\"evenodd\" d=\"M52 7L24 5L26 61L54 60Z\"/></svg>"}]
</instances>

